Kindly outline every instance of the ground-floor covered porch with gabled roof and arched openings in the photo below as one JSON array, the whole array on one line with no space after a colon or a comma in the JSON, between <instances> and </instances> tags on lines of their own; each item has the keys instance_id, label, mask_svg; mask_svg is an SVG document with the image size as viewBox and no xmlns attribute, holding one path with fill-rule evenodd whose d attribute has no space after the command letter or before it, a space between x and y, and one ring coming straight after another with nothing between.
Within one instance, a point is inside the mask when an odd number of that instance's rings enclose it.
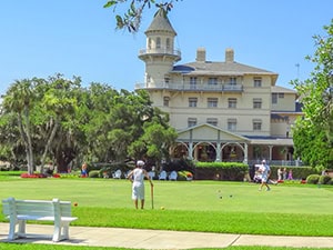
<instances>
[{"instance_id":1,"label":"ground-floor covered porch with gabled roof and arched openings","mask_svg":"<svg viewBox=\"0 0 333 250\"><path fill-rule=\"evenodd\" d=\"M262 159L295 164L290 138L248 138L211 124L200 124L179 132L172 158L195 161L235 161L256 163Z\"/></svg>"}]
</instances>

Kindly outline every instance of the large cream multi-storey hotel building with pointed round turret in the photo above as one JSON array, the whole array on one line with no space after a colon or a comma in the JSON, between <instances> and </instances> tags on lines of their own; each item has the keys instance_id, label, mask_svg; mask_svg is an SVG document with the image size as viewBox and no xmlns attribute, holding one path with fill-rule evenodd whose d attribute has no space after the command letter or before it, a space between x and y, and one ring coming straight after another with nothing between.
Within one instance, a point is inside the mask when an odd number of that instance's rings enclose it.
<instances>
[{"instance_id":1,"label":"large cream multi-storey hotel building with pointed round turret","mask_svg":"<svg viewBox=\"0 0 333 250\"><path fill-rule=\"evenodd\" d=\"M223 61L209 61L204 48L195 61L175 64L176 32L160 9L145 31L144 82L154 107L170 114L179 133L174 158L198 161L261 159L293 164L292 126L299 116L296 92L275 86L278 73L235 61L228 48Z\"/></svg>"}]
</instances>

